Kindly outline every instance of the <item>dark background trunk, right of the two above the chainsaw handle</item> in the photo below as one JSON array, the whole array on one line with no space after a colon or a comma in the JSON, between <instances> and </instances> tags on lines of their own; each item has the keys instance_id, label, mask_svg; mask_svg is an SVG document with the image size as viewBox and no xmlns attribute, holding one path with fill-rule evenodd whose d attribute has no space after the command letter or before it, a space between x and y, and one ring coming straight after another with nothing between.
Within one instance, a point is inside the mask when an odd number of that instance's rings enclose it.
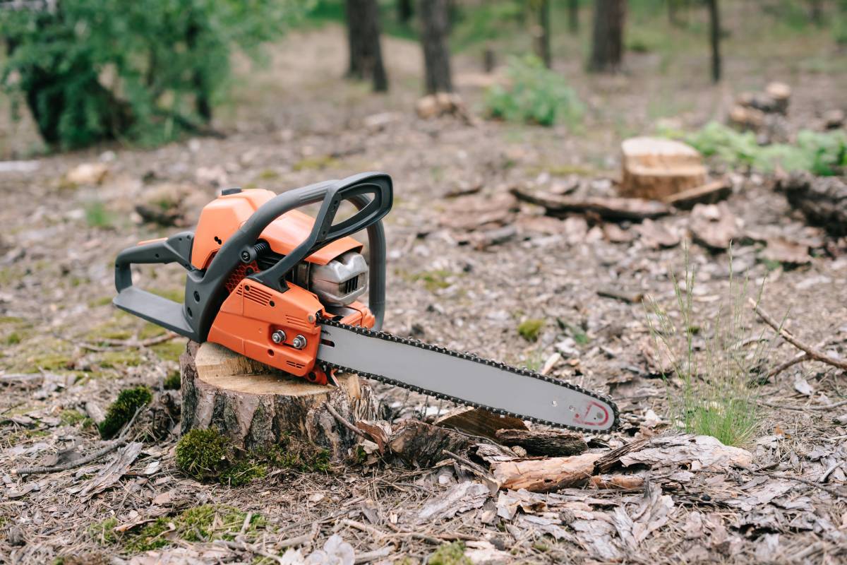
<instances>
[{"instance_id":1,"label":"dark background trunk, right of the two above the chainsaw handle","mask_svg":"<svg viewBox=\"0 0 847 565\"><path fill-rule=\"evenodd\" d=\"M447 10L447 0L419 0L418 2L428 94L453 91L450 51L447 48L447 33L450 29Z\"/></svg>"}]
</instances>

